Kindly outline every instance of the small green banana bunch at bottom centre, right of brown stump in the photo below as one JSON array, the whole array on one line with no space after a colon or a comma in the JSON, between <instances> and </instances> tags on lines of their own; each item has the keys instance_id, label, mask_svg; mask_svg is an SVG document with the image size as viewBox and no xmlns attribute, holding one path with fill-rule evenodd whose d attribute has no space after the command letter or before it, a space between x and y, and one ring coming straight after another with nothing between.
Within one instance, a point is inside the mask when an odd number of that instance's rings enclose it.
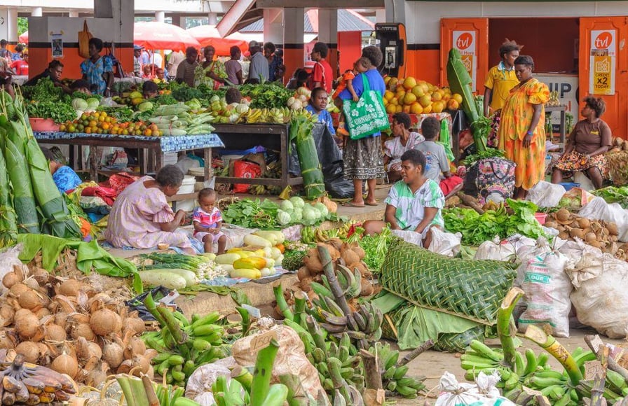
<instances>
[{"instance_id":1,"label":"small green banana bunch at bottom centre, right of brown stump","mask_svg":"<svg viewBox=\"0 0 628 406\"><path fill-rule=\"evenodd\" d=\"M397 366L399 351L391 349L390 344L385 345L376 342L369 352L377 355L381 368L381 381L383 387L391 392L396 392L404 398L414 399L418 391L425 388L421 379L407 377L408 365Z\"/></svg>"}]
</instances>

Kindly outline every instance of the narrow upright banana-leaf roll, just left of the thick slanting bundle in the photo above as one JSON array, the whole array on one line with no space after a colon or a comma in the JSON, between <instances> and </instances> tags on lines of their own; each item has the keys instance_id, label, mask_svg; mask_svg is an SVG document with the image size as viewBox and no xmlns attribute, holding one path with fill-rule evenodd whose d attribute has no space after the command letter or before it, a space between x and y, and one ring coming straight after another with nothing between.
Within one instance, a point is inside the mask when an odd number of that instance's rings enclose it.
<instances>
[{"instance_id":1,"label":"narrow upright banana-leaf roll, just left of the thick slanting bundle","mask_svg":"<svg viewBox=\"0 0 628 406\"><path fill-rule=\"evenodd\" d=\"M26 164L25 144L13 127L6 127L4 158L13 187L13 209L18 216L18 232L39 234L39 218L33 197L31 178Z\"/></svg>"}]
</instances>

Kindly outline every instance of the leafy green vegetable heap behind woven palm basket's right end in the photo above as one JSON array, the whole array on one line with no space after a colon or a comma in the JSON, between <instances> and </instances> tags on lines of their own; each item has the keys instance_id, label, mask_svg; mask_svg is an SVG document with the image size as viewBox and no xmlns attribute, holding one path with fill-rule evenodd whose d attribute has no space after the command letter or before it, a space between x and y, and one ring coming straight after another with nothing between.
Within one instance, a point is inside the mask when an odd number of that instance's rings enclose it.
<instances>
[{"instance_id":1,"label":"leafy green vegetable heap behind woven palm basket's right end","mask_svg":"<svg viewBox=\"0 0 628 406\"><path fill-rule=\"evenodd\" d=\"M472 246L491 241L496 236L500 239L514 234L533 239L549 237L534 216L538 209L536 204L511 199L507 202L513 214L508 214L505 207L497 211L487 210L484 214L478 214L473 209L444 209L445 229L448 232L460 232L463 244Z\"/></svg>"}]
</instances>

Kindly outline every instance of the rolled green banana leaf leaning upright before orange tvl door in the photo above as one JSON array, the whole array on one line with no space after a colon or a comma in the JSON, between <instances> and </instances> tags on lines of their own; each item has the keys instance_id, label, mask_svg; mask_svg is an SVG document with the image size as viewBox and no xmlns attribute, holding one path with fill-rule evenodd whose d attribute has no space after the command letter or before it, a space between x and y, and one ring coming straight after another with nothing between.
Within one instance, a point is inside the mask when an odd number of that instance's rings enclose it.
<instances>
[{"instance_id":1,"label":"rolled green banana leaf leaning upright before orange tvl door","mask_svg":"<svg viewBox=\"0 0 628 406\"><path fill-rule=\"evenodd\" d=\"M467 115L467 118L471 121L471 132L473 134L473 142L477 152L486 151L486 139L483 137L484 131L478 131L474 128L480 128L484 126L474 125L477 121L483 121L484 116L480 115L475 105L475 99L471 90L473 80L469 76L469 72L462 59L460 58L460 52L456 48L449 50L449 59L447 60L447 81L449 82L449 88L452 92L458 93L463 97L463 111Z\"/></svg>"}]
</instances>

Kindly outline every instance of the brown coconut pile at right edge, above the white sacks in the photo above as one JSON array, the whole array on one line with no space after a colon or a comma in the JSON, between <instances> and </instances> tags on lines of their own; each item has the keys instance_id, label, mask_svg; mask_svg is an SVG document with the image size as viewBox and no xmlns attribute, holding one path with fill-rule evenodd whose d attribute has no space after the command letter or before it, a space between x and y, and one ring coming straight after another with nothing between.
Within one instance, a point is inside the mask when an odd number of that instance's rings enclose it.
<instances>
[{"instance_id":1,"label":"brown coconut pile at right edge, above the white sacks","mask_svg":"<svg viewBox=\"0 0 628 406\"><path fill-rule=\"evenodd\" d=\"M601 220L590 220L562 208L547 216L545 227L558 230L561 239L575 241L600 248L603 253L615 255L620 260L628 260L628 243L618 243L617 224Z\"/></svg>"}]
</instances>

